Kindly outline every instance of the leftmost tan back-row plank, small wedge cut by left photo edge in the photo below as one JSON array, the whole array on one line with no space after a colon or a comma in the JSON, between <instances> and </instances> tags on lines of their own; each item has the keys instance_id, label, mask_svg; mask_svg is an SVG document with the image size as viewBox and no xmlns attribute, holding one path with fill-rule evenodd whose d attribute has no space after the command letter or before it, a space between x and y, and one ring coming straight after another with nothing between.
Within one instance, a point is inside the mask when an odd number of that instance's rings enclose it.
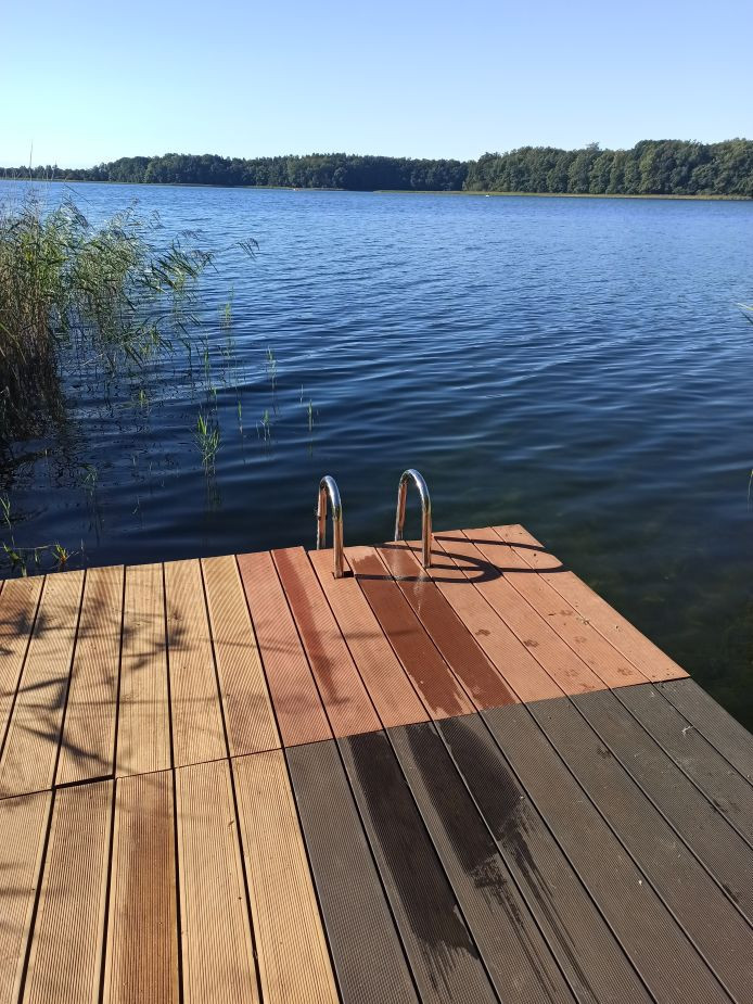
<instances>
[{"instance_id":1,"label":"leftmost tan back-row plank, small wedge cut by left photo edge","mask_svg":"<svg viewBox=\"0 0 753 1004\"><path fill-rule=\"evenodd\" d=\"M0 595L0 749L39 605L43 576L14 579Z\"/></svg>"}]
</instances>

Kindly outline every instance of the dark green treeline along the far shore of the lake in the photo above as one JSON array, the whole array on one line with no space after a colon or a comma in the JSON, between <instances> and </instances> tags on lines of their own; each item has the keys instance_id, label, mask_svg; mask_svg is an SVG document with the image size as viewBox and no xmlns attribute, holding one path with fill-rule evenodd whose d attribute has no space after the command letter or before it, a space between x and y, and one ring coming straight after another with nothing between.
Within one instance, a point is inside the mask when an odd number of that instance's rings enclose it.
<instances>
[{"instance_id":1,"label":"dark green treeline along the far shore of the lake","mask_svg":"<svg viewBox=\"0 0 753 1004\"><path fill-rule=\"evenodd\" d=\"M642 140L631 150L521 147L477 161L312 153L307 156L220 157L167 153L120 157L82 169L18 168L16 177L67 181L131 181L349 191L471 191L591 195L742 195L753 198L753 141L695 143Z\"/></svg>"}]
</instances>

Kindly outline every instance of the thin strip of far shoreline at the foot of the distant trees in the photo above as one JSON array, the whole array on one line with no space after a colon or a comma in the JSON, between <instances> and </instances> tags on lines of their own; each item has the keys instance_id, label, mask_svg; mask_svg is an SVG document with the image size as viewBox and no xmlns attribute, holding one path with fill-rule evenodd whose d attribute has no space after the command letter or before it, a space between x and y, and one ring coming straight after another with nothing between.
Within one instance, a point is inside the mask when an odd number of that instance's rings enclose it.
<instances>
[{"instance_id":1,"label":"thin strip of far shoreline at the foot of the distant trees","mask_svg":"<svg viewBox=\"0 0 753 1004\"><path fill-rule=\"evenodd\" d=\"M89 181L69 178L9 178L0 176L0 181L25 185L124 185L140 188L202 188L202 189L242 189L263 192L337 192L349 195L475 195L476 198L525 198L525 199L667 199L685 202L751 202L753 195L669 195L669 194L626 194L620 192L497 192L497 191L435 191L433 189L348 189L348 188L293 188L290 185L203 185L200 181Z\"/></svg>"}]
</instances>

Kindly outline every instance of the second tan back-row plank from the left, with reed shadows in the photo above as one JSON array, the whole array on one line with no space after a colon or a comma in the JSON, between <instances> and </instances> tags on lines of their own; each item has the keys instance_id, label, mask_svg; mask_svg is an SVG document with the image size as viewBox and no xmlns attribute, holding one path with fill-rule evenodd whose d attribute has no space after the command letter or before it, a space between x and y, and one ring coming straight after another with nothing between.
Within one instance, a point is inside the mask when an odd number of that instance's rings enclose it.
<instances>
[{"instance_id":1,"label":"second tan back-row plank from the left, with reed shadows","mask_svg":"<svg viewBox=\"0 0 753 1004\"><path fill-rule=\"evenodd\" d=\"M84 572L58 572L44 581L0 759L2 798L52 784L82 586Z\"/></svg>"}]
</instances>

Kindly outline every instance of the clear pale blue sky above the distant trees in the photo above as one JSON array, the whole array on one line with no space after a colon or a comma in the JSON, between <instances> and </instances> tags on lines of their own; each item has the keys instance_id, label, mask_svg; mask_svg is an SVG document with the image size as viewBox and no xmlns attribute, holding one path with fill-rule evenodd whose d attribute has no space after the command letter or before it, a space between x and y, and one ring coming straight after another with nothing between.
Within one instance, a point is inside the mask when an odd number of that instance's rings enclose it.
<instances>
[{"instance_id":1,"label":"clear pale blue sky above the distant trees","mask_svg":"<svg viewBox=\"0 0 753 1004\"><path fill-rule=\"evenodd\" d=\"M0 164L753 138L753 2L5 0Z\"/></svg>"}]
</instances>

